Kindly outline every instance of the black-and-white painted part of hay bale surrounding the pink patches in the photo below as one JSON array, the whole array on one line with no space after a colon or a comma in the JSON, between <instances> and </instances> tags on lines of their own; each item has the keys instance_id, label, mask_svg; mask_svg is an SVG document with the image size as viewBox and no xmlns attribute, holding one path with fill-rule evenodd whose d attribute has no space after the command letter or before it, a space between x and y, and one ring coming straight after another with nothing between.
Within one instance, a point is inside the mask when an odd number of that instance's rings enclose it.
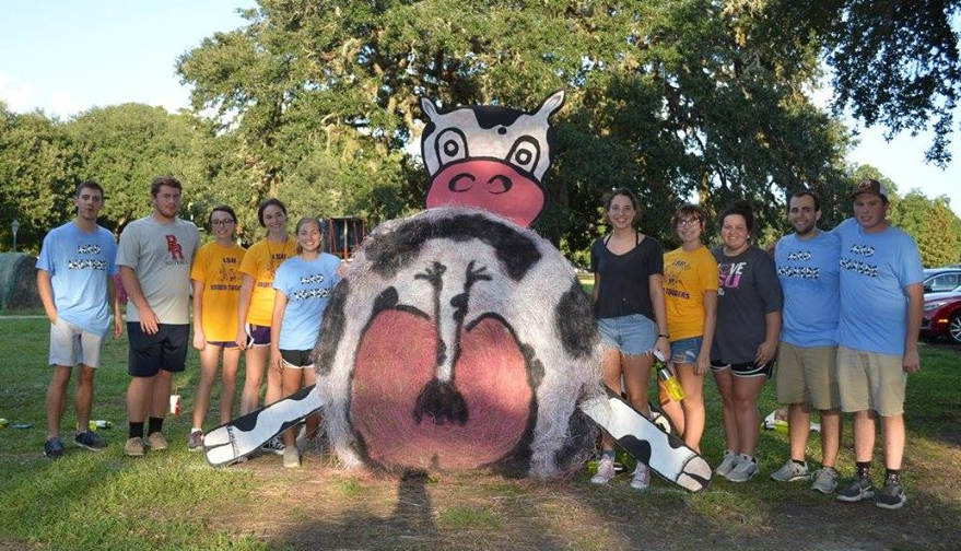
<instances>
[{"instance_id":1,"label":"black-and-white painted part of hay bale surrounding the pink patches","mask_svg":"<svg viewBox=\"0 0 961 551\"><path fill-rule=\"evenodd\" d=\"M335 291L315 350L328 435L345 465L368 462L352 426L356 412L351 409L351 385L358 342L385 307L422 313L436 323L443 348L450 352L436 362L442 384L454 376L454 352L464 328L496 317L512 329L535 387L535 418L523 449L504 459L519 459L531 474L551 476L591 446L594 432L572 418L577 403L602 396L600 340L574 269L550 243L465 208L431 209L388 222L368 239ZM435 288L422 282L425 270L437 265L444 267L440 301ZM479 271L484 279L469 285L469 304L461 309L458 295ZM410 406L413 415L415 405Z\"/></svg>"}]
</instances>

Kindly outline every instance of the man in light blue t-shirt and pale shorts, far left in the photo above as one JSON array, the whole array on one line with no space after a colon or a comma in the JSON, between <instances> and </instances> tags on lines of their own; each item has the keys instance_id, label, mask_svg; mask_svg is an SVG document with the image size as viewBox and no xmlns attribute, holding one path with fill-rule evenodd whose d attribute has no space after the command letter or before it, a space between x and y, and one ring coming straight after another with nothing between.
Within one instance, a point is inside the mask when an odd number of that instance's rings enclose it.
<instances>
[{"instance_id":1,"label":"man in light blue t-shirt and pale shorts, far left","mask_svg":"<svg viewBox=\"0 0 961 551\"><path fill-rule=\"evenodd\" d=\"M114 337L124 330L120 304L116 300L114 234L97 225L104 208L104 189L96 181L77 186L73 196L77 216L44 238L37 259L37 292L50 319L50 360L54 376L47 388L47 438L44 455L63 456L60 421L67 406L67 386L77 367L77 434L74 444L101 450L106 443L89 430L93 406L93 376L99 365L101 348L109 329L114 307Z\"/></svg>"}]
</instances>

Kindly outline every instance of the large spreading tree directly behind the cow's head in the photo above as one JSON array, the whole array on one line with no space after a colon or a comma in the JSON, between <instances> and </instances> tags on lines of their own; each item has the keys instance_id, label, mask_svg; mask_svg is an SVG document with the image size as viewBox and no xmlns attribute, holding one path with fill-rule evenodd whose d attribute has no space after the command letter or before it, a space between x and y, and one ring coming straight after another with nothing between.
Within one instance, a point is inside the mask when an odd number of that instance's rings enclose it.
<instances>
[{"instance_id":1,"label":"large spreading tree directly behind the cow's head","mask_svg":"<svg viewBox=\"0 0 961 551\"><path fill-rule=\"evenodd\" d=\"M780 223L786 192L842 173L844 131L804 94L818 47L785 47L749 2L262 0L245 16L177 68L239 144L251 204L419 209L422 95L532 108L567 90L538 228L569 253L600 233L614 186L640 192L659 235L693 197L712 211L747 197Z\"/></svg>"}]
</instances>

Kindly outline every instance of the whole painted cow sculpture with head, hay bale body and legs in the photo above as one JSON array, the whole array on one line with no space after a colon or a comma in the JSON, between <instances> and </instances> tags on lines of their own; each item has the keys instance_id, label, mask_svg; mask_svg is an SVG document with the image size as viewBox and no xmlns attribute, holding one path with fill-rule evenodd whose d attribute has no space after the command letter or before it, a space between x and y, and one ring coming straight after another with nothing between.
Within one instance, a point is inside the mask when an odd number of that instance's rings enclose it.
<instances>
[{"instance_id":1,"label":"whole painted cow sculpture with head, hay bale body and legs","mask_svg":"<svg viewBox=\"0 0 961 551\"><path fill-rule=\"evenodd\" d=\"M427 210L378 226L347 267L302 391L211 431L213 465L317 408L345 466L550 477L583 465L596 424L667 480L711 467L601 386L600 339L573 267L529 226L544 207L550 117L427 99Z\"/></svg>"}]
</instances>

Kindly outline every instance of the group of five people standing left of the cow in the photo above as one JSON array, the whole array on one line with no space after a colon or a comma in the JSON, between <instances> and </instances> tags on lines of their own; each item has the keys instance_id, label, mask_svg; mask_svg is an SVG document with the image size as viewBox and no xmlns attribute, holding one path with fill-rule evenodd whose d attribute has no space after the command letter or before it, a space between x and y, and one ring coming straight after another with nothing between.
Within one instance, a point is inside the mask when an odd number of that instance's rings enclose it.
<instances>
[{"instance_id":1,"label":"group of five people standing left of the cow","mask_svg":"<svg viewBox=\"0 0 961 551\"><path fill-rule=\"evenodd\" d=\"M96 221L104 190L95 181L77 187L77 216L50 231L37 261L37 286L50 319L49 364L54 376L47 389L47 438L44 455L65 454L60 422L67 387L75 367L78 446L99 450L104 439L89 429L93 376L114 315L114 336L124 316L114 276L127 295L129 340L127 388L129 457L168 447L163 433L174 374L186 367L192 290L192 344L200 353L200 382L194 399L187 447L202 448L203 421L218 368L222 363L220 420L233 417L241 352L245 383L241 413L259 407L267 373L265 401L272 403L314 383L312 351L320 319L339 280L340 260L323 251L323 230L316 218L301 219L291 236L286 207L278 199L260 203L257 216L267 236L249 249L237 245L237 216L227 206L209 216L214 239L200 246L197 226L179 218L183 186L173 177L151 183L153 212L128 224L119 245ZM306 437L316 437L318 419L308 419ZM294 429L270 450L283 454L285 467L300 465Z\"/></svg>"}]
</instances>

